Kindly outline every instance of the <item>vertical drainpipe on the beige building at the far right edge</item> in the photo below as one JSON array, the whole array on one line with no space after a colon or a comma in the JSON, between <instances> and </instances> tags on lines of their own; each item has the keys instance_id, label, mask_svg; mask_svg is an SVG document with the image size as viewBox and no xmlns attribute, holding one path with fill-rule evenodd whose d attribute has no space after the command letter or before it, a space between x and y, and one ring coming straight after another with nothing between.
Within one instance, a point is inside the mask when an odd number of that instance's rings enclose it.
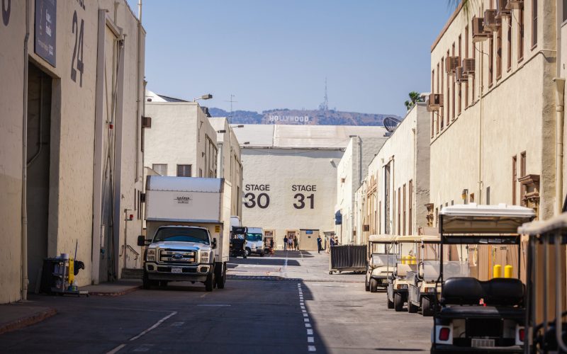
<instances>
[{"instance_id":1,"label":"vertical drainpipe on the beige building at the far right edge","mask_svg":"<svg viewBox=\"0 0 567 354\"><path fill-rule=\"evenodd\" d=\"M558 63L559 64L559 63ZM555 198L556 207L554 215L561 214L563 200L563 120L565 111L563 105L565 101L565 79L554 78L555 82Z\"/></svg>"}]
</instances>

